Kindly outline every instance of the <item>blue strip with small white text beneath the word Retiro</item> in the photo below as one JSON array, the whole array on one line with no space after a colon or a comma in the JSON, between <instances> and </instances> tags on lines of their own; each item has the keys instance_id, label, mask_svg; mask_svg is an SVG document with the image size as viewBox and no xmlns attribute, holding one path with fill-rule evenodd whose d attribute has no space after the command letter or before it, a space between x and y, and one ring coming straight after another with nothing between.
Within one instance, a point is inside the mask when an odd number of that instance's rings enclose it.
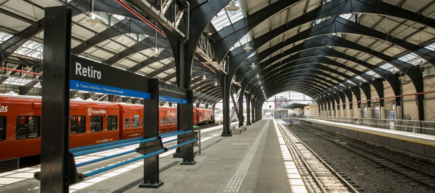
<instances>
[{"instance_id":1,"label":"blue strip with small white text beneath the word Retiro","mask_svg":"<svg viewBox=\"0 0 435 193\"><path fill-rule=\"evenodd\" d=\"M82 81L70 80L69 87L75 90L85 90L89 92L101 92L113 95L123 95L130 97L137 97L143 99L151 99L151 94L148 92L140 92L136 90L129 90L124 88L117 88L112 86L99 85L94 83L86 83Z\"/></svg>"}]
</instances>

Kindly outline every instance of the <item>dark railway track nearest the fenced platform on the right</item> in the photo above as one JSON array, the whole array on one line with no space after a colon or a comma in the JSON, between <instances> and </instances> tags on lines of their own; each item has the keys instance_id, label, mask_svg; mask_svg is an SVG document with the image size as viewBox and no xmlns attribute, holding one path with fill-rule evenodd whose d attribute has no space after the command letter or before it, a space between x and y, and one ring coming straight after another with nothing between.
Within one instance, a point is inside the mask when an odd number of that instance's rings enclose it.
<instances>
[{"instance_id":1,"label":"dark railway track nearest the fenced platform on the right","mask_svg":"<svg viewBox=\"0 0 435 193\"><path fill-rule=\"evenodd\" d=\"M400 175L402 177L412 180L414 183L410 183L409 185L422 185L425 186L430 192L435 192L435 175L431 173L418 170L379 153L362 148L358 145L353 144L352 142L349 142L351 139L343 140L343 138L346 137L343 137L341 135L313 129L301 122L299 122L298 126L302 129L307 130L308 132L311 132L321 138L324 138L332 143L335 143L338 146L341 146L351 152L354 152L355 154L362 156L364 159L366 159L365 161L373 167L382 167L390 170L393 173L396 173L397 176Z\"/></svg>"}]
</instances>

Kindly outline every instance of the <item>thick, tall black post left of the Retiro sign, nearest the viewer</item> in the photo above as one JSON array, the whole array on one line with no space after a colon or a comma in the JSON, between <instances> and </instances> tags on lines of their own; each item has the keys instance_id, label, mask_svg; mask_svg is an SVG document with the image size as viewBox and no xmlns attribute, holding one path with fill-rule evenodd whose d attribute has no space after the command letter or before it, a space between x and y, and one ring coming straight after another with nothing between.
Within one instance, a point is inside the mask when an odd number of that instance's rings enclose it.
<instances>
[{"instance_id":1,"label":"thick, tall black post left of the Retiro sign, nearest the viewer","mask_svg":"<svg viewBox=\"0 0 435 193\"><path fill-rule=\"evenodd\" d=\"M41 127L41 193L69 192L69 57L71 11L46 7ZM55 92L53 92L55 91ZM36 123L36 122L35 122Z\"/></svg>"}]
</instances>

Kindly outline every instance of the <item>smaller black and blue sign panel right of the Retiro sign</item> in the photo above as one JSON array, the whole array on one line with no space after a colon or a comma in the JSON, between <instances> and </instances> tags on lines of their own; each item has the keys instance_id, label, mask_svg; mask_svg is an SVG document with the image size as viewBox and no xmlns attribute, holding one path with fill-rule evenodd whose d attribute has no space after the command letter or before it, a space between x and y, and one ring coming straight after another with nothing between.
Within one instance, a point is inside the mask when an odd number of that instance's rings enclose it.
<instances>
[{"instance_id":1,"label":"smaller black and blue sign panel right of the Retiro sign","mask_svg":"<svg viewBox=\"0 0 435 193\"><path fill-rule=\"evenodd\" d=\"M158 100L164 102L188 104L187 89L167 83L158 83Z\"/></svg>"}]
</instances>

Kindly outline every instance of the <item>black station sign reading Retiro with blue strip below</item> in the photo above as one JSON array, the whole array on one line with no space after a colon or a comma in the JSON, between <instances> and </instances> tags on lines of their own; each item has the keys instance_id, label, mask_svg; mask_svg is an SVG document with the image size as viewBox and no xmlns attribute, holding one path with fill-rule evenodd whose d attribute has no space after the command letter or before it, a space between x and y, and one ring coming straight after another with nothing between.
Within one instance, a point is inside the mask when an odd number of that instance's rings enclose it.
<instances>
[{"instance_id":1,"label":"black station sign reading Retiro with blue strip below","mask_svg":"<svg viewBox=\"0 0 435 193\"><path fill-rule=\"evenodd\" d=\"M151 99L150 79L126 70L71 55L70 88Z\"/></svg>"}]
</instances>

